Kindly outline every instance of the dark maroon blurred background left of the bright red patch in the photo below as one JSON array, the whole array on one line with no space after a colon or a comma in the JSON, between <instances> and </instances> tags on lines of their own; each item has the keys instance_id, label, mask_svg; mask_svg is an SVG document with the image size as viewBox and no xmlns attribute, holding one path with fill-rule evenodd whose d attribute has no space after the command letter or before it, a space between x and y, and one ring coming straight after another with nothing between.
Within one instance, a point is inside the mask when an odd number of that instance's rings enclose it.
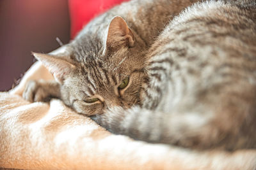
<instances>
[{"instance_id":1,"label":"dark maroon blurred background left of the bright red patch","mask_svg":"<svg viewBox=\"0 0 256 170\"><path fill-rule=\"evenodd\" d=\"M35 59L70 39L68 0L0 0L0 91L12 85Z\"/></svg>"}]
</instances>

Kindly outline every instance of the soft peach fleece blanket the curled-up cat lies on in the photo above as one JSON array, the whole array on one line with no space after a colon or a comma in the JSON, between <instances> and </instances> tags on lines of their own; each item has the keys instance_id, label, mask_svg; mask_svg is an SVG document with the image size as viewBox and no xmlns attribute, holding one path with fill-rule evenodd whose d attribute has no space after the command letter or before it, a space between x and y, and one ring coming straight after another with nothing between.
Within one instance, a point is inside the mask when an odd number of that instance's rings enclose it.
<instances>
[{"instance_id":1,"label":"soft peach fleece blanket the curled-up cat lies on","mask_svg":"<svg viewBox=\"0 0 256 170\"><path fill-rule=\"evenodd\" d=\"M54 53L61 52L65 46ZM0 167L17 169L256 169L256 150L192 151L106 131L60 100L29 103L31 79L52 79L39 62L0 93Z\"/></svg>"}]
</instances>

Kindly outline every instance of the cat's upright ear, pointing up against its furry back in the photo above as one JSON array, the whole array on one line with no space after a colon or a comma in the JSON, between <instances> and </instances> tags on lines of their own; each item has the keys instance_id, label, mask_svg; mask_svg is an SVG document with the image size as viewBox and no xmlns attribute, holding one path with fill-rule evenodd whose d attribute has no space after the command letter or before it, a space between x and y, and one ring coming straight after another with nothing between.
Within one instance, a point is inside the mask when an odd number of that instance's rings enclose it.
<instances>
[{"instance_id":1,"label":"cat's upright ear, pointing up against its furry back","mask_svg":"<svg viewBox=\"0 0 256 170\"><path fill-rule=\"evenodd\" d=\"M114 17L108 26L106 48L119 46L134 46L134 36L122 17Z\"/></svg>"}]
</instances>

